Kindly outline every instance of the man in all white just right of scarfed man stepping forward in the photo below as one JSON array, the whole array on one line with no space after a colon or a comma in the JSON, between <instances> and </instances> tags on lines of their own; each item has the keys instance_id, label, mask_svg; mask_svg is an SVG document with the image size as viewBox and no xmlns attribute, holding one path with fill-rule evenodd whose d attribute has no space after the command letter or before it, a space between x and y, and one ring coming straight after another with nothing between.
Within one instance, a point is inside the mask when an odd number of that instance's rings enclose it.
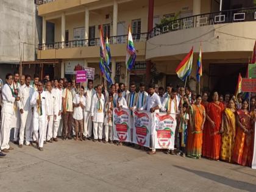
<instances>
[{"instance_id":1,"label":"man in all white just right of scarfed man stepping forward","mask_svg":"<svg viewBox=\"0 0 256 192\"><path fill-rule=\"evenodd\" d=\"M44 129L44 141L49 143L53 142L53 121L56 119L59 113L59 103L57 101L57 95L55 91L52 91L52 84L51 81L48 80L46 83L46 105L45 105L45 114L46 114L46 121L45 121L45 129ZM57 108L58 107L58 108ZM47 135L46 135L47 134Z\"/></svg>"}]
</instances>

